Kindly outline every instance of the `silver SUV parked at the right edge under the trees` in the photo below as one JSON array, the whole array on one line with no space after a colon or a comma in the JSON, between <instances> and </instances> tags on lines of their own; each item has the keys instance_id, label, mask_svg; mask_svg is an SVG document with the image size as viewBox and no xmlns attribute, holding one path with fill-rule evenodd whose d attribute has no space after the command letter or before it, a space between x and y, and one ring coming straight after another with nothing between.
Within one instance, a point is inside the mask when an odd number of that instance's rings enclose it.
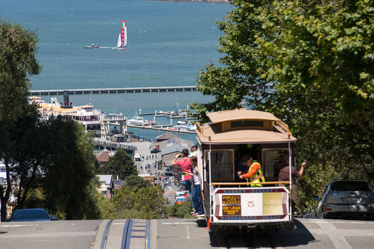
<instances>
[{"instance_id":1,"label":"silver SUV parked at the right edge under the trees","mask_svg":"<svg viewBox=\"0 0 374 249\"><path fill-rule=\"evenodd\" d=\"M374 194L362 180L333 180L318 200L316 216L326 218L374 218Z\"/></svg>"}]
</instances>

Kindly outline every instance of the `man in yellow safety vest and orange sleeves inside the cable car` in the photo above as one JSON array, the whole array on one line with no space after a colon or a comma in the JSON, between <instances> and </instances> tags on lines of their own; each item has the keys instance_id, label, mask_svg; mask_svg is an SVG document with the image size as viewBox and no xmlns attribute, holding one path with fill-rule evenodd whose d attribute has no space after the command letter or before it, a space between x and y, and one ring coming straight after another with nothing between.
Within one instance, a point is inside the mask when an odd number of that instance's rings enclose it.
<instances>
[{"instance_id":1,"label":"man in yellow safety vest and orange sleeves inside the cable car","mask_svg":"<svg viewBox=\"0 0 374 249\"><path fill-rule=\"evenodd\" d=\"M244 155L243 165L247 166L248 170L237 172L240 179L249 179L249 182L251 183L265 182L265 178L261 170L261 165L258 161L253 160L252 156ZM251 184L251 187L261 186L261 184Z\"/></svg>"}]
</instances>

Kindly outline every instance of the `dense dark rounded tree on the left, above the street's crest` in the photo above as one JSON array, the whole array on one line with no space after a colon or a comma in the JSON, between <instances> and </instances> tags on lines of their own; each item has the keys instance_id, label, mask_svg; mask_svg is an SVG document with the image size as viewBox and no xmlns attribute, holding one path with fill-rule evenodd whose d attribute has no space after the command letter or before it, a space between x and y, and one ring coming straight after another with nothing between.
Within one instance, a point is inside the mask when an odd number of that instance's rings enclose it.
<instances>
[{"instance_id":1,"label":"dense dark rounded tree on the left, above the street's crest","mask_svg":"<svg viewBox=\"0 0 374 249\"><path fill-rule=\"evenodd\" d=\"M48 135L44 177L45 207L68 220L100 216L96 196L92 136L81 125L58 116L45 124Z\"/></svg>"}]
</instances>

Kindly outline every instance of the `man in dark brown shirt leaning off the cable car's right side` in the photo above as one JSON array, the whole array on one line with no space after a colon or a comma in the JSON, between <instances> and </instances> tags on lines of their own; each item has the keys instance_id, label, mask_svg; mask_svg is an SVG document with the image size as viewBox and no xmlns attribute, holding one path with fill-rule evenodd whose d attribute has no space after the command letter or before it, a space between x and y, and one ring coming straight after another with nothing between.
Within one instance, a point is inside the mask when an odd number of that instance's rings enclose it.
<instances>
[{"instance_id":1,"label":"man in dark brown shirt leaning off the cable car's right side","mask_svg":"<svg viewBox=\"0 0 374 249\"><path fill-rule=\"evenodd\" d=\"M283 164L278 166L278 181L283 182L283 181L290 181L290 155L285 154L283 156ZM292 161L292 160L291 160ZM306 163L303 162L301 164L301 169L299 172L295 169L294 166L291 165L291 193L290 193L290 198L291 198L291 208L292 208L292 215L294 214L295 206L297 205L300 209L301 212L303 212L303 207L300 204L300 194L299 194L299 188L296 183L296 178L300 179L301 176L304 173L304 168L305 168ZM289 184L280 184L280 186L285 186L288 190L290 190L290 185Z\"/></svg>"}]
</instances>

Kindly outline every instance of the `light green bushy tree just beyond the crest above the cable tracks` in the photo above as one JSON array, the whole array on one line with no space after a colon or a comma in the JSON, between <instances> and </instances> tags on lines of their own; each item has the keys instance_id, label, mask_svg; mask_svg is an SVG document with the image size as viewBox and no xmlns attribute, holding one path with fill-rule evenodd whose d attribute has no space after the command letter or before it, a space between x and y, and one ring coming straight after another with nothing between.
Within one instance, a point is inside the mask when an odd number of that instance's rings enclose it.
<instances>
[{"instance_id":1,"label":"light green bushy tree just beyond the crest above the cable tracks","mask_svg":"<svg viewBox=\"0 0 374 249\"><path fill-rule=\"evenodd\" d=\"M117 213L130 212L131 216L137 219L162 219L169 213L169 203L164 198L164 189L161 185L145 188L122 187L115 190L112 198ZM138 212L135 212L138 211ZM141 215L140 215L141 214Z\"/></svg>"}]
</instances>

